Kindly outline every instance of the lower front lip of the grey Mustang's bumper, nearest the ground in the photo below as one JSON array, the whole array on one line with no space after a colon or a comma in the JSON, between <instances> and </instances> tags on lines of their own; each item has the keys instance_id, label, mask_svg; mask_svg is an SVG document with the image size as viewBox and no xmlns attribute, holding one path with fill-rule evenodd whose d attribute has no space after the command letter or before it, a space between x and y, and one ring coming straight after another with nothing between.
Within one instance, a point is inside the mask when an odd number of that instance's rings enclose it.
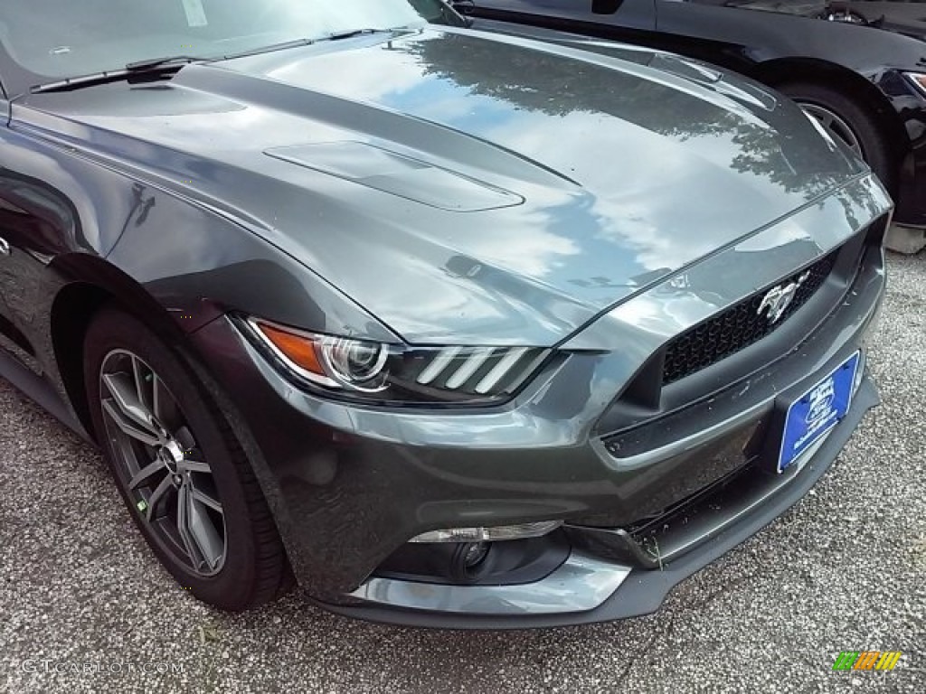
<instances>
[{"instance_id":1,"label":"lower front lip of the grey Mustang's bumper, nearest the ground","mask_svg":"<svg viewBox=\"0 0 926 694\"><path fill-rule=\"evenodd\" d=\"M769 525L807 494L832 462L862 416L878 404L877 390L865 378L849 414L832 430L800 470L766 479L755 505L728 516L694 551L687 551L657 569L607 561L594 553L573 550L542 585L444 587L411 585L373 578L355 592L363 603L323 606L335 613L374 622L457 629L570 626L608 622L655 612L669 590ZM757 490L758 491L758 490ZM594 606L588 607L594 603ZM582 609L584 608L584 609Z\"/></svg>"}]
</instances>

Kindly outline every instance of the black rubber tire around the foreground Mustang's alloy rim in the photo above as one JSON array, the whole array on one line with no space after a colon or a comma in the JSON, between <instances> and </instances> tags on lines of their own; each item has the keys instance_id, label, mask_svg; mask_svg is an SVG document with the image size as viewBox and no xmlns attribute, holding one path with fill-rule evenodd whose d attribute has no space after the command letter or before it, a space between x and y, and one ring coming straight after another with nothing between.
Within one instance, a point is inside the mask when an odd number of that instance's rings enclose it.
<instances>
[{"instance_id":1,"label":"black rubber tire around the foreground Mustang's alloy rim","mask_svg":"<svg viewBox=\"0 0 926 694\"><path fill-rule=\"evenodd\" d=\"M97 440L133 520L171 576L182 588L189 589L201 601L232 612L257 607L289 589L293 582L292 572L251 465L228 422L204 394L191 370L181 362L179 355L139 320L112 307L106 307L94 316L87 329L83 348L84 382ZM135 357L138 357L137 361ZM191 459L205 459L208 472L187 472L186 477L196 476L195 479L203 480L202 485L208 486L209 497L218 498L213 501L219 502L221 510L210 510L213 518L219 518L219 522L213 525L220 523L224 536L221 562L217 566L213 567L205 561L195 561L196 552L189 551L197 546L194 539L191 539L194 535L191 523L184 524L184 542L188 550L184 552L183 545L176 540L182 533L171 542L171 536L164 530L171 522L169 511L165 510L161 517L152 517L149 520L146 511L139 506L140 503L144 504L144 494L148 492L132 490L129 486L131 463L127 462L127 456L137 455L137 462L142 465L142 456L150 448L155 452L154 459L160 465L158 456L164 454L164 451L157 446L147 446L131 437L123 437L119 425L116 424L118 417L114 418L111 414L113 403L116 402L113 391L110 390L112 381L104 383L101 376L104 364L118 364L113 361L116 359L129 359L128 363L132 365L144 365L140 369L150 369L154 383L160 384L160 407L163 409L163 403L169 402L168 396L171 396L173 404L170 418L178 421L182 419L182 427L186 432L184 435L194 438L194 444L191 445L194 445L195 449L187 451L184 445L183 459L185 460L187 454L191 455ZM107 374L112 376L112 373ZM123 376L121 373L116 375L120 378ZM137 378L135 382L138 383ZM106 412L101 392L105 393L104 397L108 403L109 409ZM156 400L153 403L152 412L156 412ZM164 430L167 431L166 425ZM125 441L130 441L131 446L127 448ZM131 452L127 453L129 449ZM151 457L147 460L149 463L152 462ZM176 463L173 460L171 462ZM135 470L137 469L136 467ZM182 477L182 474L171 474L167 467L164 475L173 480ZM164 481L163 477L161 481ZM195 485L191 483L189 489L202 485L197 481ZM156 482L152 482L151 488L155 486ZM181 506L181 496L177 484L173 486L176 496L173 508L177 514L176 509ZM169 487L165 489L167 491L157 497L165 501L153 502L149 508L158 506L169 509ZM200 492L197 490L197 493ZM190 496L188 494L182 498L189 500ZM154 495L149 493L148 498L153 497ZM196 502L187 502L184 506L188 507L189 503ZM206 507L201 505L201 508ZM189 512L187 517L190 517ZM180 520L175 517L173 522L179 524ZM215 538L218 535L211 537ZM202 547L203 544L200 543L198 546ZM205 556L206 552L202 555ZM213 568L213 571L208 573L204 567ZM206 573L208 575L205 575Z\"/></svg>"}]
</instances>

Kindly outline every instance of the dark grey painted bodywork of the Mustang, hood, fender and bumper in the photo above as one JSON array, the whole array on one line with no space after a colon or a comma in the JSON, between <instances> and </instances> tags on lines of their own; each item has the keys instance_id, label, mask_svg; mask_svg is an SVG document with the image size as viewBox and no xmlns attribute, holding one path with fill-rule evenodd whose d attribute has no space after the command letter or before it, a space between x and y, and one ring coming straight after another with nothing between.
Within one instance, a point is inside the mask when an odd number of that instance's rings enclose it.
<instances>
[{"instance_id":1,"label":"dark grey painted bodywork of the Mustang, hood, fender and bumper","mask_svg":"<svg viewBox=\"0 0 926 694\"><path fill-rule=\"evenodd\" d=\"M618 615L593 611L644 567L580 551L582 538L638 527L734 473L767 474L759 444L778 435L776 413L864 348L892 205L790 102L682 58L614 50L430 27L72 91L7 80L0 373L92 435L81 330L116 302L228 418L315 599L387 605L399 621L432 618L444 598L502 621ZM673 339L827 258L774 332L665 382ZM348 402L293 378L247 316L556 358L505 402ZM844 424L802 465L830 465L874 402L863 372L855 385ZM711 464L691 440L660 438L666 422L697 429ZM724 457L743 428L753 445ZM627 436L636 448L621 457L613 442ZM800 479L785 497L815 477ZM524 552L507 577L416 574L408 540L421 533L550 519L569 528L498 549ZM687 544L679 578L713 557Z\"/></svg>"}]
</instances>

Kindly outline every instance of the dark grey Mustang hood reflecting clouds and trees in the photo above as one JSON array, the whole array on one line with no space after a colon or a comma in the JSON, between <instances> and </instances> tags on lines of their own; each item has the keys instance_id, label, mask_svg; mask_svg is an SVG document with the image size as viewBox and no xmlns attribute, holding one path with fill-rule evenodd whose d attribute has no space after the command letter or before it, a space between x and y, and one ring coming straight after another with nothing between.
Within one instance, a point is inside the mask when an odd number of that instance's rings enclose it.
<instances>
[{"instance_id":1,"label":"dark grey Mustang hood reflecting clouds and trees","mask_svg":"<svg viewBox=\"0 0 926 694\"><path fill-rule=\"evenodd\" d=\"M751 82L609 54L429 28L14 119L235 218L417 343L561 341L867 170Z\"/></svg>"}]
</instances>

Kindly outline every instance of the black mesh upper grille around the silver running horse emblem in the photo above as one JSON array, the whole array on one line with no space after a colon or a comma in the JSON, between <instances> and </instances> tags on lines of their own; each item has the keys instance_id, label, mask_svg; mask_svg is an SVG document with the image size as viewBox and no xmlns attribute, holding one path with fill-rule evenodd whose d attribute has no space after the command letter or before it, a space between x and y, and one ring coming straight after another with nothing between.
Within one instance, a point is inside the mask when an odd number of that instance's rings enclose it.
<instances>
[{"instance_id":1,"label":"black mesh upper grille around the silver running horse emblem","mask_svg":"<svg viewBox=\"0 0 926 694\"><path fill-rule=\"evenodd\" d=\"M834 251L824 256L812 266L779 283L779 286L787 285L807 274L806 279L798 286L794 300L778 320L770 321L768 309L759 313L759 307L771 289L766 288L673 338L666 347L662 384L667 385L691 376L780 328L795 311L807 303L830 276L832 267L836 264L836 254Z\"/></svg>"}]
</instances>

